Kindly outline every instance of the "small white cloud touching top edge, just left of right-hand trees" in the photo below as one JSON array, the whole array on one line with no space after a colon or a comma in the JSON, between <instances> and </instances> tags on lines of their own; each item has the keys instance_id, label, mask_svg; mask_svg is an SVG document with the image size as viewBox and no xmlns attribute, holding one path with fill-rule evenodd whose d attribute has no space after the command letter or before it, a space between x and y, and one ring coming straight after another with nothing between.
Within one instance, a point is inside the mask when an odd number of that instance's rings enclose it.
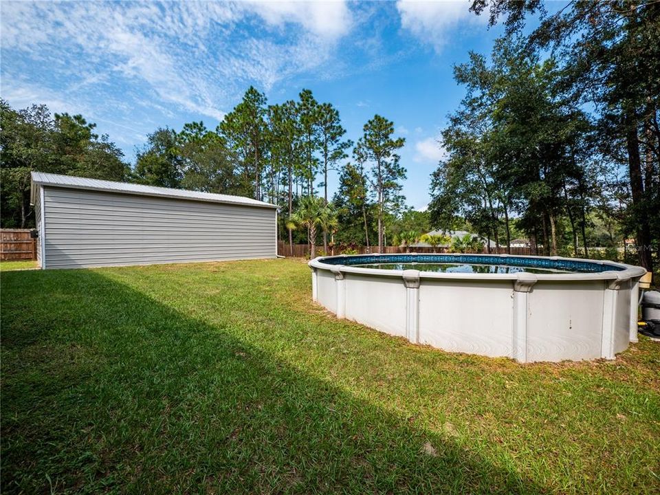
<instances>
[{"instance_id":1,"label":"small white cloud touching top edge, just left of right-hand trees","mask_svg":"<svg viewBox=\"0 0 660 495\"><path fill-rule=\"evenodd\" d=\"M450 31L465 25L483 25L487 16L470 12L470 0L397 0L401 26L439 52L450 41Z\"/></svg>"}]
</instances>

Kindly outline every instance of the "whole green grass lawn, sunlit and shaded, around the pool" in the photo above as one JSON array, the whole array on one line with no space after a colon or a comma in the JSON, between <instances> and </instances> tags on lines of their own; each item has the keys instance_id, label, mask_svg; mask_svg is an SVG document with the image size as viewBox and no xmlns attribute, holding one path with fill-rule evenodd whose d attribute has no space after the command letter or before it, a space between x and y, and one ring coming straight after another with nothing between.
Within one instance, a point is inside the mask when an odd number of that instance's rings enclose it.
<instances>
[{"instance_id":1,"label":"whole green grass lawn, sunlit and shaded, around the pool","mask_svg":"<svg viewBox=\"0 0 660 495\"><path fill-rule=\"evenodd\" d=\"M281 259L1 274L3 494L659 492L659 343L450 354L336 320L310 279Z\"/></svg>"}]
</instances>

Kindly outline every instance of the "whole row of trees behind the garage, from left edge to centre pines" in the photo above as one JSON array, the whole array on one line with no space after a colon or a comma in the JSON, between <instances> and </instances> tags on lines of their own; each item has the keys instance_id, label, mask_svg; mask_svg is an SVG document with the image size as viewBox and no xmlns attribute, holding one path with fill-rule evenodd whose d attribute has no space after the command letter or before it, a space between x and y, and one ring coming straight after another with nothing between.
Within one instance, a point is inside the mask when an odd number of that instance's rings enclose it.
<instances>
[{"instance_id":1,"label":"whole row of trees behind the garage, from left edge to centre pines","mask_svg":"<svg viewBox=\"0 0 660 495\"><path fill-rule=\"evenodd\" d=\"M156 129L137 150L133 166L81 115L51 116L43 105L19 111L1 105L5 227L34 226L32 170L269 201L282 208L280 234L289 243L316 243L320 227L326 251L335 233L338 243L373 243L382 249L386 224L405 209L400 192L406 170L397 153L404 138L394 136L394 123L374 115L353 143L345 137L339 111L318 102L309 89L297 100L268 104L250 87L215 129L203 122L184 124L180 131ZM328 190L332 171L340 175L333 198ZM313 225L305 212L315 212Z\"/></svg>"}]
</instances>

